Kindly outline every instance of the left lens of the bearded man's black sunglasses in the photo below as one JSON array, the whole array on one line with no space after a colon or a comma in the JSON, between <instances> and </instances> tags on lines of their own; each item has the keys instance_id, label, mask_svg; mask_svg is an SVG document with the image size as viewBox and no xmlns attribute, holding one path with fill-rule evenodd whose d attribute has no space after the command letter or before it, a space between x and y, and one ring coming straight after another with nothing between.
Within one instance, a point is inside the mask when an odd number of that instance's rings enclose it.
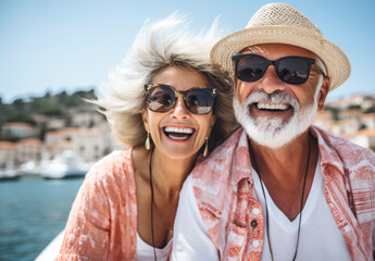
<instances>
[{"instance_id":1,"label":"left lens of the bearded man's black sunglasses","mask_svg":"<svg viewBox=\"0 0 375 261\"><path fill-rule=\"evenodd\" d=\"M260 79L267 69L267 60L258 55L245 55L238 60L236 76L243 82Z\"/></svg>"}]
</instances>

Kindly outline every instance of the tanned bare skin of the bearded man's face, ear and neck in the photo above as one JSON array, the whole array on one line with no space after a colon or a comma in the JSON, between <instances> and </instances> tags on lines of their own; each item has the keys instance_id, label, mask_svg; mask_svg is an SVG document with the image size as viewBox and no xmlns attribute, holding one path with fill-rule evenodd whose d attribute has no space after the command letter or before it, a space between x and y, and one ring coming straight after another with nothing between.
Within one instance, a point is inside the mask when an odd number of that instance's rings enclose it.
<instances>
[{"instance_id":1,"label":"tanned bare skin of the bearded man's face, ear and neck","mask_svg":"<svg viewBox=\"0 0 375 261\"><path fill-rule=\"evenodd\" d=\"M277 60L287 55L314 58L314 54L305 49L280 44L259 45L255 48L250 47L242 50L242 53L250 52L265 57L268 60ZM271 65L263 77L257 82L245 83L237 79L235 96L236 99L242 103L251 92L257 90L263 90L267 94L283 91L284 94L296 98L300 108L303 108L313 102L318 75L320 72L316 66L312 65L310 77L305 84L290 85L282 82L278 78L274 66ZM323 86L317 97L318 111L324 107L328 90L329 78L324 77ZM282 117L285 121L288 121L293 114L292 109L288 109L286 111L270 111L259 110L255 105L251 105L249 109L251 110L251 116L253 117ZM312 145L312 150L303 202L305 202L309 196L317 162L317 142L315 138L310 138L309 129L296 137L291 142L277 149L271 149L251 141L262 179L273 201L290 221L295 220L300 212L300 195L302 191L301 177L304 175L307 166L309 142ZM252 159L252 163L254 165L254 159Z\"/></svg>"}]
</instances>

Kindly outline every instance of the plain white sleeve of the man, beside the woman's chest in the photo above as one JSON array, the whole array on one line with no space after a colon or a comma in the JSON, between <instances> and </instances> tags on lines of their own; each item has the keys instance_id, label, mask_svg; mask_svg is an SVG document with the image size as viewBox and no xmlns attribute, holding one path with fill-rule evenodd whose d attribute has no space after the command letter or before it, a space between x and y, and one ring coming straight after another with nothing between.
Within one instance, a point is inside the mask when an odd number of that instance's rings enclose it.
<instances>
[{"instance_id":1,"label":"plain white sleeve of the man, beside the woman's chest","mask_svg":"<svg viewBox=\"0 0 375 261\"><path fill-rule=\"evenodd\" d=\"M192 191L191 176L185 181L179 195L171 260L220 260L218 251L200 215Z\"/></svg>"}]
</instances>

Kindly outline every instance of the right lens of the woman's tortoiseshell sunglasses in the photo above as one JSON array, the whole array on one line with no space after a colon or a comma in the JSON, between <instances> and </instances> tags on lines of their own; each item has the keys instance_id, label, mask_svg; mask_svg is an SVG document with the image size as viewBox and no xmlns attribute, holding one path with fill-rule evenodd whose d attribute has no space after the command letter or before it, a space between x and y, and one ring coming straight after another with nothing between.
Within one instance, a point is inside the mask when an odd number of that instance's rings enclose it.
<instances>
[{"instance_id":1,"label":"right lens of the woman's tortoiseshell sunglasses","mask_svg":"<svg viewBox=\"0 0 375 261\"><path fill-rule=\"evenodd\" d=\"M195 114L208 114L213 104L213 97L205 89L191 89L185 98L186 107Z\"/></svg>"}]
</instances>

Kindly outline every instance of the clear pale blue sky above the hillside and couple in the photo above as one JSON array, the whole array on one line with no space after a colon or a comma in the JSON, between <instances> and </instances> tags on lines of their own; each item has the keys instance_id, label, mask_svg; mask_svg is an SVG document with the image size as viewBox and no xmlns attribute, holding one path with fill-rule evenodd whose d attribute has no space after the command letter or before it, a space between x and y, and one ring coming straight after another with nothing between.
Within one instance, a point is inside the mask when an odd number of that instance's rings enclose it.
<instances>
[{"instance_id":1,"label":"clear pale blue sky above the hillside and couple","mask_svg":"<svg viewBox=\"0 0 375 261\"><path fill-rule=\"evenodd\" d=\"M197 32L220 16L235 32L266 0L0 0L0 97L41 96L89 89L108 79L147 18L179 10ZM374 92L375 1L288 0L339 46L351 65L350 78L330 99Z\"/></svg>"}]
</instances>

